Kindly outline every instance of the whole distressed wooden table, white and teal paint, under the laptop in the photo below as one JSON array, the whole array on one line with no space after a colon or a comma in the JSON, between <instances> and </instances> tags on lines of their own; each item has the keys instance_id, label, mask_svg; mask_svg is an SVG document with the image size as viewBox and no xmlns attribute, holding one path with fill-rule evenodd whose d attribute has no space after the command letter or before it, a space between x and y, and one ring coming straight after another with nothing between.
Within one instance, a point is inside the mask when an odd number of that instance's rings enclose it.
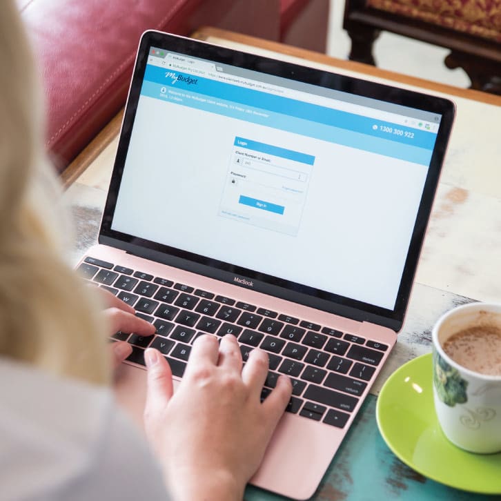
<instances>
[{"instance_id":1,"label":"whole distressed wooden table, white and teal paint, under the laptop","mask_svg":"<svg viewBox=\"0 0 501 501\"><path fill-rule=\"evenodd\" d=\"M501 97L406 77L351 61L204 28L194 37L299 64L453 99L458 114L415 279L406 321L372 395L335 455L315 500L480 500L415 473L377 431L375 402L386 378L431 351L431 328L445 311L470 302L501 302ZM305 61L306 60L306 61ZM95 243L117 147L121 114L63 175L77 224L76 260ZM501 471L500 471L501 475ZM246 500L281 500L248 487ZM490 499L490 498L489 498Z\"/></svg>"}]
</instances>

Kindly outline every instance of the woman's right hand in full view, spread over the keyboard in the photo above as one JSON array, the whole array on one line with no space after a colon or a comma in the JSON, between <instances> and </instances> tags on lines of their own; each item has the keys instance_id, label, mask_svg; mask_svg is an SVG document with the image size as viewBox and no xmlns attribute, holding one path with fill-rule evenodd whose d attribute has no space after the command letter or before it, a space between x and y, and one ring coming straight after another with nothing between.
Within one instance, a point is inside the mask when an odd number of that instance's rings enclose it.
<instances>
[{"instance_id":1,"label":"woman's right hand in full view, spread over the keyboard","mask_svg":"<svg viewBox=\"0 0 501 501\"><path fill-rule=\"evenodd\" d=\"M242 370L233 335L195 340L176 393L170 368L148 348L146 434L177 501L242 499L291 397L291 381L277 380L260 402L268 355L253 350Z\"/></svg>"}]
</instances>

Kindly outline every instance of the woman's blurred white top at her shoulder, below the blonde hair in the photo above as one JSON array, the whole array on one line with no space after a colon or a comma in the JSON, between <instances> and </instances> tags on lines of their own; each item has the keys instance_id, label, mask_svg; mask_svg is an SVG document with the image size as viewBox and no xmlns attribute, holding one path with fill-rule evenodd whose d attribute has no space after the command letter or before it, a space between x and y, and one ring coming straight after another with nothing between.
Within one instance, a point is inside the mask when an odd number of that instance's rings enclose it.
<instances>
[{"instance_id":1,"label":"woman's blurred white top at her shoulder, below the blonde hair","mask_svg":"<svg viewBox=\"0 0 501 501\"><path fill-rule=\"evenodd\" d=\"M0 357L0 499L166 501L159 464L110 389Z\"/></svg>"}]
</instances>

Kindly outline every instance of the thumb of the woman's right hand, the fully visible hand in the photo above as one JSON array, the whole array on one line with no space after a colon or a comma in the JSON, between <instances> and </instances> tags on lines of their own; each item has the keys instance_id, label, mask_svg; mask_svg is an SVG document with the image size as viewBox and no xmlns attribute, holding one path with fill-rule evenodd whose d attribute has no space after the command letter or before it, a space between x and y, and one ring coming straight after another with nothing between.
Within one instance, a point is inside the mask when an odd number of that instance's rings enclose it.
<instances>
[{"instance_id":1,"label":"thumb of the woman's right hand, the fully visible hand","mask_svg":"<svg viewBox=\"0 0 501 501\"><path fill-rule=\"evenodd\" d=\"M144 360L148 368L144 417L145 420L154 420L173 396L173 374L167 360L155 348L148 348L144 352Z\"/></svg>"}]
</instances>

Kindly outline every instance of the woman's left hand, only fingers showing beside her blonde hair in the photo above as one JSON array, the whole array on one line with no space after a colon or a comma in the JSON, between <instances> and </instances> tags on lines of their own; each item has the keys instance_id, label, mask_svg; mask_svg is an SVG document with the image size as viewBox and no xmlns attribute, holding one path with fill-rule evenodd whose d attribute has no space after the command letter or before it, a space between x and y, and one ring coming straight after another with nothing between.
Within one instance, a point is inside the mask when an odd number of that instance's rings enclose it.
<instances>
[{"instance_id":1,"label":"woman's left hand, only fingers showing beside her blonde hair","mask_svg":"<svg viewBox=\"0 0 501 501\"><path fill-rule=\"evenodd\" d=\"M106 305L103 313L109 326L110 335L118 331L133 332L141 336L155 334L155 326L142 318L136 317L135 309L132 306L124 303L104 288L100 287L99 293L101 293L101 297L104 299L104 304ZM110 349L115 369L132 353L132 346L126 341L114 342L111 344Z\"/></svg>"}]
</instances>

